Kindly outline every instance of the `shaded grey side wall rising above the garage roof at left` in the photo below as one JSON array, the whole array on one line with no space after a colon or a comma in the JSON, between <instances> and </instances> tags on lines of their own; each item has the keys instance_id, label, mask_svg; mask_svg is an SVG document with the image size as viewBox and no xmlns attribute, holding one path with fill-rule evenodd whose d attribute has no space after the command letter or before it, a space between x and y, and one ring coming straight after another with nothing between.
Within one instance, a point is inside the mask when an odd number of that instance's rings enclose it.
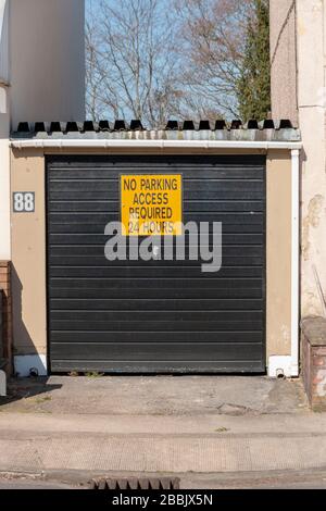
<instances>
[{"instance_id":1,"label":"shaded grey side wall rising above the garage roof at left","mask_svg":"<svg viewBox=\"0 0 326 511\"><path fill-rule=\"evenodd\" d=\"M10 0L11 122L85 116L84 0Z\"/></svg>"}]
</instances>

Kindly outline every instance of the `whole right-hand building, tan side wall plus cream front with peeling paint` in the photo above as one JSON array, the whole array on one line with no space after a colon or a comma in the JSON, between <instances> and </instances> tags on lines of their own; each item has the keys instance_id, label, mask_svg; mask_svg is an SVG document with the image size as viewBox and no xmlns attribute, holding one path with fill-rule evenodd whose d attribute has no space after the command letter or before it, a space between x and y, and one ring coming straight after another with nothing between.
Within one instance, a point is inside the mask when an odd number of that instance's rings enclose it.
<instances>
[{"instance_id":1,"label":"whole right-hand building, tan side wall plus cream front with peeling paint","mask_svg":"<svg viewBox=\"0 0 326 511\"><path fill-rule=\"evenodd\" d=\"M326 2L271 0L272 108L300 125L301 315L325 315Z\"/></svg>"}]
</instances>

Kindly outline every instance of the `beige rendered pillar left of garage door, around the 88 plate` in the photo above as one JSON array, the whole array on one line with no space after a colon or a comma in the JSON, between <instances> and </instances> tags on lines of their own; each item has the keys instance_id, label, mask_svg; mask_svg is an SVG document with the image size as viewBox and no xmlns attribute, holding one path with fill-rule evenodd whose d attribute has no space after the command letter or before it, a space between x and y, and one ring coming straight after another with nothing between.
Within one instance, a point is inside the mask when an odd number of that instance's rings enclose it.
<instances>
[{"instance_id":1,"label":"beige rendered pillar left of garage door, around the 88 plate","mask_svg":"<svg viewBox=\"0 0 326 511\"><path fill-rule=\"evenodd\" d=\"M35 212L13 213L11 222L14 356L38 354L45 363L47 353L45 159L40 152L29 151L28 158L16 154L16 158L12 158L11 167L12 189L35 191ZM30 364L34 367L35 360ZM15 363L16 372L20 372L18 365Z\"/></svg>"}]
</instances>

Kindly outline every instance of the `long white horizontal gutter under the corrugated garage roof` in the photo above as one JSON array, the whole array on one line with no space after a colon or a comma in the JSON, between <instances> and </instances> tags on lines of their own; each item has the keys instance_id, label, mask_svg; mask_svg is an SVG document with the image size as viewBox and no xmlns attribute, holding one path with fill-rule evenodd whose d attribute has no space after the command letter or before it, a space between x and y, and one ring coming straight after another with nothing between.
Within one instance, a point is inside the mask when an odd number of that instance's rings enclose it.
<instances>
[{"instance_id":1,"label":"long white horizontal gutter under the corrugated garage roof","mask_svg":"<svg viewBox=\"0 0 326 511\"><path fill-rule=\"evenodd\" d=\"M247 140L139 140L139 139L14 139L15 149L269 149L300 150L302 142Z\"/></svg>"}]
</instances>

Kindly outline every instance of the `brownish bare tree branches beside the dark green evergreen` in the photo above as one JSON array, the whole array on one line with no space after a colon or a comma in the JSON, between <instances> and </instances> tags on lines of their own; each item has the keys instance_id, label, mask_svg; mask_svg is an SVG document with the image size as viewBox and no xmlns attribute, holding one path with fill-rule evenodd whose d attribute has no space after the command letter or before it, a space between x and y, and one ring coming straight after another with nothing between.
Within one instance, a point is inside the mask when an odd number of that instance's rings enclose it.
<instances>
[{"instance_id":1,"label":"brownish bare tree branches beside the dark green evergreen","mask_svg":"<svg viewBox=\"0 0 326 511\"><path fill-rule=\"evenodd\" d=\"M181 23L183 79L202 109L238 115L236 84L252 0L175 0Z\"/></svg>"}]
</instances>

